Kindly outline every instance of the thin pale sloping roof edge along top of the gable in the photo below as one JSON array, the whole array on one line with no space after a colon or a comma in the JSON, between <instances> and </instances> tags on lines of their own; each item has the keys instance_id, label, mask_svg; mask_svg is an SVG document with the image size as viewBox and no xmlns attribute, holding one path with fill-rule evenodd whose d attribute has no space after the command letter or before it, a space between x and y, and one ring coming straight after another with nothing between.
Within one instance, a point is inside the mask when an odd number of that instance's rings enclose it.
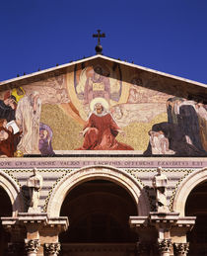
<instances>
[{"instance_id":1,"label":"thin pale sloping roof edge along top of the gable","mask_svg":"<svg viewBox=\"0 0 207 256\"><path fill-rule=\"evenodd\" d=\"M104 55L101 55L101 54L93 55L93 56L86 57L86 58L83 58L83 59L79 59L79 60L76 60L76 61L71 61L70 63L66 63L66 64L62 64L62 65L59 65L59 66L47 68L47 69L44 69L44 70L41 70L41 71L36 71L36 72L28 74L28 75L8 79L8 80L0 82L0 86L6 85L6 84L9 84L9 83L12 83L12 82L22 81L22 80L27 79L27 78L33 78L36 75L42 75L42 74L49 73L49 72L52 72L52 71L60 70L60 69L67 68L67 67L70 67L72 65L83 63L83 62L93 60L93 59L96 59L96 58L103 58L103 59L113 61L113 62L122 64L122 65L130 66L130 67L133 67L133 68L138 68L138 69L141 69L143 71L148 71L148 72L158 74L158 75L161 75L161 76L165 76L165 77L168 77L168 78L173 78L173 79L179 80L181 82L185 82L185 83L189 83L189 84L193 84L193 85L197 85L197 86L200 86L200 87L207 88L207 85L204 84L204 83L189 80L189 79L186 79L186 78L182 78L182 77L179 77L179 76L175 76L175 75L172 75L172 74L161 72L161 71L151 69L151 68L148 68L148 67L143 67L143 66L140 66L140 65L137 65L137 64L129 63L127 61L122 61L122 60L119 60L119 59L107 57L107 56L104 56Z\"/></svg>"}]
</instances>

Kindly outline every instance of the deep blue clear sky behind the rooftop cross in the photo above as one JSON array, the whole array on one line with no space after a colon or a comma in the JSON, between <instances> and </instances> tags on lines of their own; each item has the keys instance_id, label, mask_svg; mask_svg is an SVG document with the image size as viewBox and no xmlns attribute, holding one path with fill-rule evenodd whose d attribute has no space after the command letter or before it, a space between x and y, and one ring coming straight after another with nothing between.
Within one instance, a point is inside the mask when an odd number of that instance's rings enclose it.
<instances>
[{"instance_id":1,"label":"deep blue clear sky behind the rooftop cross","mask_svg":"<svg viewBox=\"0 0 207 256\"><path fill-rule=\"evenodd\" d=\"M207 83L206 0L0 0L0 81L95 54Z\"/></svg>"}]
</instances>

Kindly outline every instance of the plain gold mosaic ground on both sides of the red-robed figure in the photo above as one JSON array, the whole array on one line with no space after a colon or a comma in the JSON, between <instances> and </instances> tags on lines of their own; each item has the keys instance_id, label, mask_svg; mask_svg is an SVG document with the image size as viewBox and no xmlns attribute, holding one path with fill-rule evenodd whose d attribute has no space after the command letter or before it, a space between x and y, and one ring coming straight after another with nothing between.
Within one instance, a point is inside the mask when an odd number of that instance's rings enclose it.
<instances>
[{"instance_id":1,"label":"plain gold mosaic ground on both sides of the red-robed figure","mask_svg":"<svg viewBox=\"0 0 207 256\"><path fill-rule=\"evenodd\" d=\"M41 108L41 123L52 128L54 150L74 150L83 144L79 131L83 129L78 122L66 115L58 105L44 104ZM149 142L148 131L153 125L167 122L167 114L158 115L152 122L133 123L123 128L126 136L117 135L117 140L131 145L135 150L146 150Z\"/></svg>"}]
</instances>

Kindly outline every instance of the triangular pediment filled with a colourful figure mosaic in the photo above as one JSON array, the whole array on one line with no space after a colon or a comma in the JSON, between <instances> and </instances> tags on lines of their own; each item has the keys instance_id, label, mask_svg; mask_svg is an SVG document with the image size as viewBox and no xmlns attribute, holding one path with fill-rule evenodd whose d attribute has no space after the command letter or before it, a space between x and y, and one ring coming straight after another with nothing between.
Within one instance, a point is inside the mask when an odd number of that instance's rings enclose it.
<instances>
[{"instance_id":1,"label":"triangular pediment filled with a colourful figure mosaic","mask_svg":"<svg viewBox=\"0 0 207 256\"><path fill-rule=\"evenodd\" d=\"M207 150L206 94L205 84L98 54L1 82L0 119L23 131L15 148L24 155L199 156ZM97 103L102 113L93 113Z\"/></svg>"}]
</instances>

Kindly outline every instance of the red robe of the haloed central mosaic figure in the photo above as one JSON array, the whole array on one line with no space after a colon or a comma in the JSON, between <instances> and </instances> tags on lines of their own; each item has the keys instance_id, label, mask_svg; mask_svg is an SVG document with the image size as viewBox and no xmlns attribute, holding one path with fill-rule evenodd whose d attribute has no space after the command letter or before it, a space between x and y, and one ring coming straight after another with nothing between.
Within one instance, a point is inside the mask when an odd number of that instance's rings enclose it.
<instances>
[{"instance_id":1,"label":"red robe of the haloed central mosaic figure","mask_svg":"<svg viewBox=\"0 0 207 256\"><path fill-rule=\"evenodd\" d=\"M115 136L118 134L118 126L110 114L97 116L94 113L84 129L83 146L79 150L134 150L131 146L118 142Z\"/></svg>"}]
</instances>

